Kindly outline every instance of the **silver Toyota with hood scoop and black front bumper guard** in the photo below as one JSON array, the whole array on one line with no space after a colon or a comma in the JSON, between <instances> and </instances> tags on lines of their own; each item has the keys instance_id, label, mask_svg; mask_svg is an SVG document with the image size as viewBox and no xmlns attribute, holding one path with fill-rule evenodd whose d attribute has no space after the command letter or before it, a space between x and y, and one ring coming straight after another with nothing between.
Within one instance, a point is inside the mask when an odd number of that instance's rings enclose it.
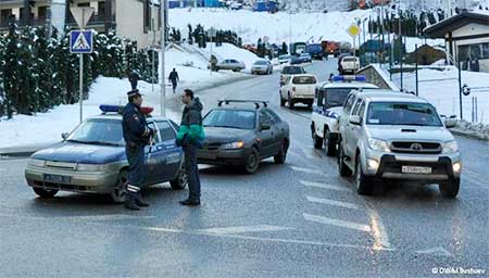
<instances>
[{"instance_id":1,"label":"silver Toyota with hood scoop and black front bumper guard","mask_svg":"<svg viewBox=\"0 0 489 278\"><path fill-rule=\"evenodd\" d=\"M457 143L425 99L390 90L351 92L339 117L338 169L355 175L356 191L371 194L385 179L438 184L443 197L459 193ZM377 182L375 182L377 181Z\"/></svg>"}]
</instances>

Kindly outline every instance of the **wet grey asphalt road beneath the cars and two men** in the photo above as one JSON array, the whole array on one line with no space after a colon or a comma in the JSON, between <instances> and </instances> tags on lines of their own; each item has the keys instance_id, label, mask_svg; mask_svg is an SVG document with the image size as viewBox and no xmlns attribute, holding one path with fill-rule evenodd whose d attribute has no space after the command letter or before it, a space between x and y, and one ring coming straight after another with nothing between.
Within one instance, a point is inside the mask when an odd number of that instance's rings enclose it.
<instances>
[{"instance_id":1,"label":"wet grey asphalt road beneath the cars and two men","mask_svg":"<svg viewBox=\"0 0 489 278\"><path fill-rule=\"evenodd\" d=\"M324 79L335 67L308 71ZM269 100L291 127L287 163L265 161L253 176L202 166L201 207L180 206L187 191L161 185L145 192L149 208L128 212L97 195L38 199L23 178L27 161L2 160L0 276L438 277L446 267L489 276L487 142L457 138L456 200L405 184L366 198L313 149L311 112L279 108L278 74L200 97L206 110L222 98Z\"/></svg>"}]
</instances>

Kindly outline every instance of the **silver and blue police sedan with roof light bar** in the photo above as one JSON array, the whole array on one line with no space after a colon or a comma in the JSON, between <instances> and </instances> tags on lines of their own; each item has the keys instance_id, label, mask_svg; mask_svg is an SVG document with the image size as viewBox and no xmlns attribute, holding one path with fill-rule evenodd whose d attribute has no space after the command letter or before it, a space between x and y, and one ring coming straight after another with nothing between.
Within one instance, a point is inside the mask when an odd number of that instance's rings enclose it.
<instances>
[{"instance_id":1,"label":"silver and blue police sedan with roof light bar","mask_svg":"<svg viewBox=\"0 0 489 278\"><path fill-rule=\"evenodd\" d=\"M64 134L62 142L32 155L25 177L39 197L52 198L61 190L108 194L113 202L124 202L128 163L118 113L122 108L101 109L101 115ZM145 186L170 181L172 189L184 189L184 153L175 144L178 126L163 117L149 117L148 124L158 134L154 144L146 147Z\"/></svg>"}]
</instances>

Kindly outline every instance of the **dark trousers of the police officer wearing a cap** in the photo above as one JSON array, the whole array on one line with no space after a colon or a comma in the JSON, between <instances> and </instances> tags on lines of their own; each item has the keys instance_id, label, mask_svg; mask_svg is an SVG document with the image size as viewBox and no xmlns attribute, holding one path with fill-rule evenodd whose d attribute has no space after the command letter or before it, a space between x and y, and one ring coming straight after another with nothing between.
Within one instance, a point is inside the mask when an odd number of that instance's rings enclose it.
<instances>
[{"instance_id":1,"label":"dark trousers of the police officer wearing a cap","mask_svg":"<svg viewBox=\"0 0 489 278\"><path fill-rule=\"evenodd\" d=\"M145 181L145 147L139 144L134 148L126 147L126 156L129 163L127 198L129 200L139 199Z\"/></svg>"}]
</instances>

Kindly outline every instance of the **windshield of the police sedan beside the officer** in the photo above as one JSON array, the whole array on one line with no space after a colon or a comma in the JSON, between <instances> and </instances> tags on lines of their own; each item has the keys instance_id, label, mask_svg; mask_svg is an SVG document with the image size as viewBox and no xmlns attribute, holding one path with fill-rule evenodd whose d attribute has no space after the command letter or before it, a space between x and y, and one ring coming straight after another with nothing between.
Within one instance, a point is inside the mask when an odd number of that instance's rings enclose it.
<instances>
[{"instance_id":1,"label":"windshield of the police sedan beside the officer","mask_svg":"<svg viewBox=\"0 0 489 278\"><path fill-rule=\"evenodd\" d=\"M122 123L117 119L88 119L78 126L66 140L71 142L91 144L125 144Z\"/></svg>"}]
</instances>

